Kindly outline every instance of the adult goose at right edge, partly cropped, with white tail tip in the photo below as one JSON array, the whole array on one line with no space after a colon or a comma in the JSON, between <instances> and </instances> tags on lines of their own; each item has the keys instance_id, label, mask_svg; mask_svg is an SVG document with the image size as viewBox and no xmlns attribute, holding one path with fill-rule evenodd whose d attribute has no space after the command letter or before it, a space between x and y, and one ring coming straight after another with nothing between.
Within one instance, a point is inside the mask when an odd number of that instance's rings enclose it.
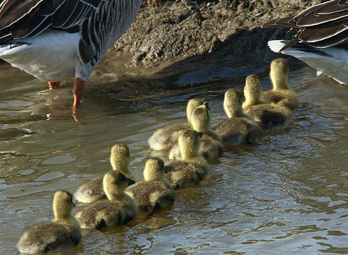
<instances>
[{"instance_id":1,"label":"adult goose at right edge, partly cropped, with white tail tip","mask_svg":"<svg viewBox=\"0 0 348 255\"><path fill-rule=\"evenodd\" d=\"M348 84L348 1L325 1L295 16L273 19L263 28L298 29L290 41L269 41L274 52L296 57L341 84Z\"/></svg>"}]
</instances>

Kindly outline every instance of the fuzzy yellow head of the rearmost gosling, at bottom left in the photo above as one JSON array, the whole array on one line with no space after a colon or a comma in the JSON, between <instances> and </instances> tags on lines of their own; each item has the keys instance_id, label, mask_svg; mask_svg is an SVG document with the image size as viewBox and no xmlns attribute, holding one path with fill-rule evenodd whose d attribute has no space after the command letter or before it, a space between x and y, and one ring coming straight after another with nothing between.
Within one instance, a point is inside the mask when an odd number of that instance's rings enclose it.
<instances>
[{"instance_id":1,"label":"fuzzy yellow head of the rearmost gosling, at bottom left","mask_svg":"<svg viewBox=\"0 0 348 255\"><path fill-rule=\"evenodd\" d=\"M53 211L55 219L67 219L74 208L73 196L70 192L59 190L54 193Z\"/></svg>"}]
</instances>

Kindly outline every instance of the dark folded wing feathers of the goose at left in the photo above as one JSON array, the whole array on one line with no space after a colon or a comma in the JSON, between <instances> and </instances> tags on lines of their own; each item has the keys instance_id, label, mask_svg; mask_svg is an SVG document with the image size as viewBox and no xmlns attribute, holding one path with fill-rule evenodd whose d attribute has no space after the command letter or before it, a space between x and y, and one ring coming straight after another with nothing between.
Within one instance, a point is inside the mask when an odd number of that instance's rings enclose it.
<instances>
[{"instance_id":1,"label":"dark folded wing feathers of the goose at left","mask_svg":"<svg viewBox=\"0 0 348 255\"><path fill-rule=\"evenodd\" d=\"M46 29L79 31L106 0L5 0L0 4L0 44Z\"/></svg>"}]
</instances>

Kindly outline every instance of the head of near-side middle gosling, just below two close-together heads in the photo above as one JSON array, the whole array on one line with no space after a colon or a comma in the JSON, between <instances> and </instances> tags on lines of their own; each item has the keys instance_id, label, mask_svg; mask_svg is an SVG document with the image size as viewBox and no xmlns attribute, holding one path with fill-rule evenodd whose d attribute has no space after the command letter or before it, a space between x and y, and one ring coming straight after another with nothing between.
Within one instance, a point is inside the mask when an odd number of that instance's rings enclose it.
<instances>
[{"instance_id":1,"label":"head of near-side middle gosling, just below two close-together heads","mask_svg":"<svg viewBox=\"0 0 348 255\"><path fill-rule=\"evenodd\" d=\"M199 156L199 146L201 145L202 132L194 129L182 131L179 135L179 149L182 159L191 159Z\"/></svg>"}]
</instances>

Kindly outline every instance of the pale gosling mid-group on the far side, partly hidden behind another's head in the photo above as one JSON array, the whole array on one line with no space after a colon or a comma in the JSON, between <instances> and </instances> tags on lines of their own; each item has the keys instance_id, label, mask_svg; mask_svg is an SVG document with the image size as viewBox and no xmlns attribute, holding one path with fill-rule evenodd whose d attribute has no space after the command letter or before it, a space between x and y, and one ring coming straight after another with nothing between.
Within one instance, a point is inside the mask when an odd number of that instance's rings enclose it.
<instances>
[{"instance_id":1,"label":"pale gosling mid-group on the far side, partly hidden behind another's head","mask_svg":"<svg viewBox=\"0 0 348 255\"><path fill-rule=\"evenodd\" d=\"M173 124L161 129L157 129L149 138L149 146L156 151L169 150L174 144L177 144L178 137L181 131L191 129L191 114L197 106L204 104L203 99L191 99L187 103L187 122Z\"/></svg>"}]
</instances>

